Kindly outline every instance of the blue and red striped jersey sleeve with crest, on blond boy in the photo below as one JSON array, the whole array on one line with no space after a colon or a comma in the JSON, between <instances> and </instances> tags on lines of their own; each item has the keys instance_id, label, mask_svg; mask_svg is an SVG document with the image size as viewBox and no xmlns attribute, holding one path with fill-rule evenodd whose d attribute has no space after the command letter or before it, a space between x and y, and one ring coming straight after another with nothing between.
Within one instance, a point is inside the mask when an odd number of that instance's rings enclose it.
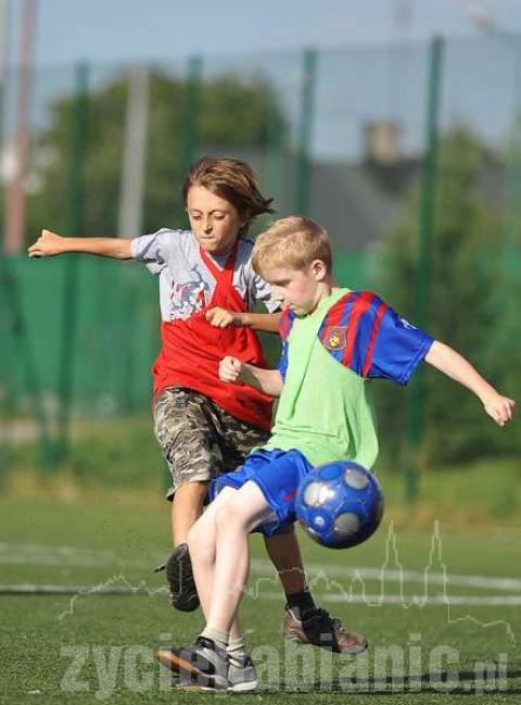
<instances>
[{"instance_id":1,"label":"blue and red striped jersey sleeve with crest, on blond boy","mask_svg":"<svg viewBox=\"0 0 521 705\"><path fill-rule=\"evenodd\" d=\"M351 291L326 316L319 338L328 352L366 379L406 385L434 342L370 291Z\"/></svg>"}]
</instances>

